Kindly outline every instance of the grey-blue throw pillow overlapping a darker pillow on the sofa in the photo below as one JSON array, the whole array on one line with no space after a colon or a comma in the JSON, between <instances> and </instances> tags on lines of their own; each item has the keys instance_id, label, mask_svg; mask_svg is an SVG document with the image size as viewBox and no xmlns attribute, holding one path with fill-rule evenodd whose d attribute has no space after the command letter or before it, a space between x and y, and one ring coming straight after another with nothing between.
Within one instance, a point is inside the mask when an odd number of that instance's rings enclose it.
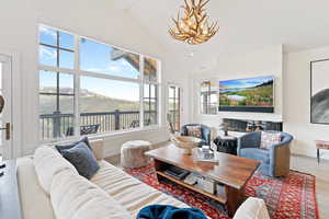
<instances>
[{"instance_id":1,"label":"grey-blue throw pillow overlapping a darker pillow on the sofa","mask_svg":"<svg viewBox=\"0 0 329 219\"><path fill-rule=\"evenodd\" d=\"M84 142L79 142L69 149L63 149L60 153L77 169L80 175L88 180L100 169L94 154Z\"/></svg>"}]
</instances>

